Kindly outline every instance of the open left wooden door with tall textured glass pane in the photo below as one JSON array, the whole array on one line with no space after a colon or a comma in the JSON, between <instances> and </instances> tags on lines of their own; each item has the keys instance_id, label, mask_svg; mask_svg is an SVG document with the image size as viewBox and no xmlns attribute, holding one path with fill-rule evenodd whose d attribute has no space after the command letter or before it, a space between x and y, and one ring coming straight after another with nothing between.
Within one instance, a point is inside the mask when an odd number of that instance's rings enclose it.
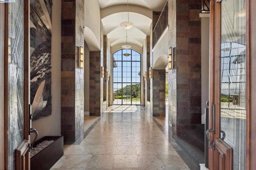
<instances>
[{"instance_id":1,"label":"open left wooden door with tall textured glass pane","mask_svg":"<svg viewBox=\"0 0 256 170\"><path fill-rule=\"evenodd\" d=\"M29 1L5 4L5 169L30 169Z\"/></svg>"}]
</instances>

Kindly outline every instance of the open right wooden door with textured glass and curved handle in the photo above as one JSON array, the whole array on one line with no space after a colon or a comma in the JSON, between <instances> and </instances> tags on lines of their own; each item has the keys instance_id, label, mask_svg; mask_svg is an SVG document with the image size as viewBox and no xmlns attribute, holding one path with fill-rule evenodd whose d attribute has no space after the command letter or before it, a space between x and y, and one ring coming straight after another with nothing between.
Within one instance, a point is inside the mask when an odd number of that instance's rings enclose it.
<instances>
[{"instance_id":1,"label":"open right wooden door with textured glass and curved handle","mask_svg":"<svg viewBox=\"0 0 256 170\"><path fill-rule=\"evenodd\" d=\"M211 0L209 169L245 170L248 0Z\"/></svg>"}]
</instances>

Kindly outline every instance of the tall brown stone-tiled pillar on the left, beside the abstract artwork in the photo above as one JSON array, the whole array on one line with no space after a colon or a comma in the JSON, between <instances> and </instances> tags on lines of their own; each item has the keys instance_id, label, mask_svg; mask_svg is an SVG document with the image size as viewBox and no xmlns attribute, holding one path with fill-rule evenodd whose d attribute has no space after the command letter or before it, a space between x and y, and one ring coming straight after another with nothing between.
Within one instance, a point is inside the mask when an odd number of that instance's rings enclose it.
<instances>
[{"instance_id":1,"label":"tall brown stone-tiled pillar on the left, beside the abstract artwork","mask_svg":"<svg viewBox=\"0 0 256 170\"><path fill-rule=\"evenodd\" d=\"M84 1L62 0L61 134L69 142L84 133L84 69L78 68L83 24Z\"/></svg>"}]
</instances>

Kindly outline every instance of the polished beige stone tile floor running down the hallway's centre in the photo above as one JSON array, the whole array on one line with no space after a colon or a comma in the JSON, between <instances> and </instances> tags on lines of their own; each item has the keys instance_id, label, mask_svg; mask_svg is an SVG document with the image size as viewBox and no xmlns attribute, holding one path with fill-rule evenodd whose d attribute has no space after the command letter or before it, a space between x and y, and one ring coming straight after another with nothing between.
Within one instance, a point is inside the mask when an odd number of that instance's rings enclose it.
<instances>
[{"instance_id":1,"label":"polished beige stone tile floor running down the hallway's centre","mask_svg":"<svg viewBox=\"0 0 256 170\"><path fill-rule=\"evenodd\" d=\"M80 144L64 145L64 156L51 170L189 170L168 142L168 131L160 130L144 107L110 112L115 107L103 113Z\"/></svg>"}]
</instances>

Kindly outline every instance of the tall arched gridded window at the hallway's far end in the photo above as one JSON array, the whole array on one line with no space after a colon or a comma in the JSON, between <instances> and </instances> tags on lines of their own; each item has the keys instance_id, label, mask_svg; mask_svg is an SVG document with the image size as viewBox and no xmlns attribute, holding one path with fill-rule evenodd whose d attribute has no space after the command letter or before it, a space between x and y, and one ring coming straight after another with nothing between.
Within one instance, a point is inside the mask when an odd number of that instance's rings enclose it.
<instances>
[{"instance_id":1,"label":"tall arched gridded window at the hallway's far end","mask_svg":"<svg viewBox=\"0 0 256 170\"><path fill-rule=\"evenodd\" d=\"M140 53L132 49L113 54L113 105L140 105Z\"/></svg>"}]
</instances>

